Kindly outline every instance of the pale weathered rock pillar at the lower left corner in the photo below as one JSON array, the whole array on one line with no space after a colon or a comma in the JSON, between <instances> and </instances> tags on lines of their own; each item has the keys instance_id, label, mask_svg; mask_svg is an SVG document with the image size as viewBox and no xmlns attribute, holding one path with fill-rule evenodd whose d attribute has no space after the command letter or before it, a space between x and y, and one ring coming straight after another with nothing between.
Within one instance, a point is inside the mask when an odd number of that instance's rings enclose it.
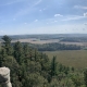
<instances>
[{"instance_id":1,"label":"pale weathered rock pillar at the lower left corner","mask_svg":"<svg viewBox=\"0 0 87 87\"><path fill-rule=\"evenodd\" d=\"M0 84L3 87L12 87L10 83L10 69L0 67Z\"/></svg>"}]
</instances>

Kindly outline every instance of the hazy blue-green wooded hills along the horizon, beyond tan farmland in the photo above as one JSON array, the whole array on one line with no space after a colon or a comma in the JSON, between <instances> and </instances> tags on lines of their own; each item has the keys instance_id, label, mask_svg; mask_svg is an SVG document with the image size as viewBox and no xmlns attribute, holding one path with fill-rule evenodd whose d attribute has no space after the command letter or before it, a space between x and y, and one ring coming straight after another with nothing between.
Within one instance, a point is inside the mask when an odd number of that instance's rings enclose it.
<instances>
[{"instance_id":1,"label":"hazy blue-green wooded hills along the horizon, beyond tan farmland","mask_svg":"<svg viewBox=\"0 0 87 87\"><path fill-rule=\"evenodd\" d=\"M12 39L27 39L27 38L37 38L37 39L59 39L61 37L87 37L87 34L39 34L39 35L10 35ZM2 36L0 36L1 40Z\"/></svg>"}]
</instances>

